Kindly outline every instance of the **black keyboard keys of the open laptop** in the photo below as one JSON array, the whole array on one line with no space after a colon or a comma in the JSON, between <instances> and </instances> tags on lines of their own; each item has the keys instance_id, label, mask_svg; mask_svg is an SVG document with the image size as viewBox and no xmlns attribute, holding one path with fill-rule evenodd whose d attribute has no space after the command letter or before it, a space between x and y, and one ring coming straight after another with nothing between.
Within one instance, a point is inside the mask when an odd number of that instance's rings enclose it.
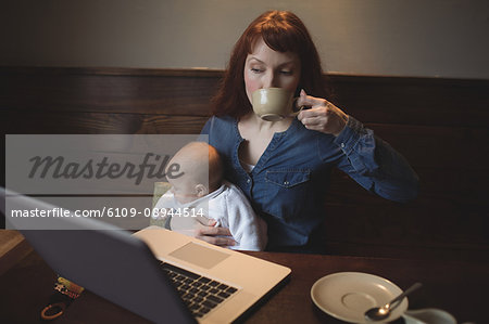
<instances>
[{"instance_id":1,"label":"black keyboard keys of the open laptop","mask_svg":"<svg viewBox=\"0 0 489 324\"><path fill-rule=\"evenodd\" d=\"M195 317L202 317L238 289L181 268L161 262Z\"/></svg>"}]
</instances>

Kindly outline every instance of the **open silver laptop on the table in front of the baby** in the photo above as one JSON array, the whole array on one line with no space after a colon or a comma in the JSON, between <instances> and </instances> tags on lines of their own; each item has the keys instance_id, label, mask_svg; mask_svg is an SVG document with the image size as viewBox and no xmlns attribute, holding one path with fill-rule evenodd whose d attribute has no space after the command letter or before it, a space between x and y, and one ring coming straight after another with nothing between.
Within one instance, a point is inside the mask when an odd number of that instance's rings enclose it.
<instances>
[{"instance_id":1,"label":"open silver laptop on the table in front of the baby","mask_svg":"<svg viewBox=\"0 0 489 324\"><path fill-rule=\"evenodd\" d=\"M57 208L8 195L0 207L13 226L13 209ZM61 222L73 230L20 232L60 275L155 323L241 320L290 277L289 268L159 226L130 234L90 218Z\"/></svg>"}]
</instances>

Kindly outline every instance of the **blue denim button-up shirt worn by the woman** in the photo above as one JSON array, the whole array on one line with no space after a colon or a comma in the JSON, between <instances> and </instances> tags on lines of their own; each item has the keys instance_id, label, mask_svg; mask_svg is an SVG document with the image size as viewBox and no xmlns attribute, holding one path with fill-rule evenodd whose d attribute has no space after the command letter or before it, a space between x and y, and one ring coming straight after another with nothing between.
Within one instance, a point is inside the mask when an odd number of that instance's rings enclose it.
<instances>
[{"instance_id":1,"label":"blue denim button-up shirt worn by the woman","mask_svg":"<svg viewBox=\"0 0 489 324\"><path fill-rule=\"evenodd\" d=\"M276 132L248 173L238 157L243 142L233 117L211 117L202 129L238 185L268 224L268 247L303 246L324 219L330 171L339 168L366 190L405 202L417 195L417 177L404 158L353 117L338 137L308 130L293 119Z\"/></svg>"}]
</instances>

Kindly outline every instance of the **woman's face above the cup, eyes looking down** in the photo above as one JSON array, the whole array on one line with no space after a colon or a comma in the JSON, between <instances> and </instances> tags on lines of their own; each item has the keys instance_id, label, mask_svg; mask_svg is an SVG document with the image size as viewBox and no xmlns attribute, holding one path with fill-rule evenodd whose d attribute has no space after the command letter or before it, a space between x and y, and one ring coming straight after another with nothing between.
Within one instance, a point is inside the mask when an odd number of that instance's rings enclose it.
<instances>
[{"instance_id":1,"label":"woman's face above the cup, eyes looking down","mask_svg":"<svg viewBox=\"0 0 489 324\"><path fill-rule=\"evenodd\" d=\"M301 62L297 53L277 52L263 39L256 41L244 62L244 87L248 100L258 89L285 88L294 92L301 78Z\"/></svg>"}]
</instances>

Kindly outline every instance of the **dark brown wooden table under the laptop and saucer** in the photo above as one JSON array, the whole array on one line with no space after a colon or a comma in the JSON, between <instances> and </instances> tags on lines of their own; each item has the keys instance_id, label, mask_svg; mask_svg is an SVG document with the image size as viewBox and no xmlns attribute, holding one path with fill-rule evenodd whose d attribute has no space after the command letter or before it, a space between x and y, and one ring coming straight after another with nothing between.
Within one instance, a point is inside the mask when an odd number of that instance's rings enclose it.
<instances>
[{"instance_id":1,"label":"dark brown wooden table under the laptop and saucer","mask_svg":"<svg viewBox=\"0 0 489 324\"><path fill-rule=\"evenodd\" d=\"M285 287L247 319L248 323L340 323L314 306L310 289L322 276L342 271L376 274L392 281L401 288L419 281L424 287L410 297L410 309L440 308L452 313L459 323L488 323L487 262L249 254L291 268L292 276ZM36 252L30 252L0 276L0 322L40 322L39 311L53 293L54 281L55 273ZM95 294L85 291L63 316L52 323L148 322Z\"/></svg>"}]
</instances>

